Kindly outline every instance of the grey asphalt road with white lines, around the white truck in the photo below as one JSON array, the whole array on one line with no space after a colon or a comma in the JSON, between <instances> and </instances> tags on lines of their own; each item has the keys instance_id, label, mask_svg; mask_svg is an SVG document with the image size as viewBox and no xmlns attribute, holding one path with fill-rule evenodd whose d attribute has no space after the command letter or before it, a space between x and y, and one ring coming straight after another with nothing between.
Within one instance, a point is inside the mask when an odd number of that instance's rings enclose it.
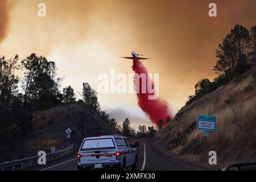
<instances>
[{"instance_id":1,"label":"grey asphalt road with white lines, around the white truck","mask_svg":"<svg viewBox=\"0 0 256 182\"><path fill-rule=\"evenodd\" d=\"M139 142L139 169L144 171L188 171L207 170L207 168L186 162L167 155L165 152L151 146L150 139L137 139ZM134 142L134 140L131 140ZM67 156L49 164L38 166L30 170L36 171L77 171L76 155Z\"/></svg>"}]
</instances>

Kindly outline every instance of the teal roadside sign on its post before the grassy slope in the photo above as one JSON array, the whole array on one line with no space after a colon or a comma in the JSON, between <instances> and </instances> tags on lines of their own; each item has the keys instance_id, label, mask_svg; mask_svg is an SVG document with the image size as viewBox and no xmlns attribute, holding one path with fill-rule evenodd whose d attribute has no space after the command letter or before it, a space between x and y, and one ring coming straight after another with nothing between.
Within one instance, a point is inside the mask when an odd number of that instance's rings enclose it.
<instances>
[{"instance_id":1,"label":"teal roadside sign on its post before the grassy slope","mask_svg":"<svg viewBox=\"0 0 256 182\"><path fill-rule=\"evenodd\" d=\"M204 143L203 143L203 152L206 156L207 143L206 137L209 137L209 131L216 131L216 117L210 116L209 114L198 115L197 116L197 130L204 131Z\"/></svg>"}]
</instances>

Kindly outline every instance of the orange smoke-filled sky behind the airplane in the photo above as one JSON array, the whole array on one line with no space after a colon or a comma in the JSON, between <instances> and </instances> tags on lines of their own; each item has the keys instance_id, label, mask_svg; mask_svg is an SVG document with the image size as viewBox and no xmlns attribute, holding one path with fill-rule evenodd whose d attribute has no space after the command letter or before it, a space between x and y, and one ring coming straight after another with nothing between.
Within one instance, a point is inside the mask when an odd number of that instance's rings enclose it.
<instances>
[{"instance_id":1,"label":"orange smoke-filled sky behind the airplane","mask_svg":"<svg viewBox=\"0 0 256 182\"><path fill-rule=\"evenodd\" d=\"M15 3L14 3L15 2ZM137 51L159 73L160 97L177 111L201 78L216 77L214 50L235 24L256 24L256 1L214 1L217 17L208 16L213 1L44 0L0 1L0 55L20 59L32 52L56 62L62 86L81 92L82 82L97 89L97 76L115 68L133 73L132 62L118 56ZM22 77L22 75L20 75ZM78 94L77 94L78 95ZM99 94L102 109L134 126L150 125L135 94Z\"/></svg>"}]
</instances>

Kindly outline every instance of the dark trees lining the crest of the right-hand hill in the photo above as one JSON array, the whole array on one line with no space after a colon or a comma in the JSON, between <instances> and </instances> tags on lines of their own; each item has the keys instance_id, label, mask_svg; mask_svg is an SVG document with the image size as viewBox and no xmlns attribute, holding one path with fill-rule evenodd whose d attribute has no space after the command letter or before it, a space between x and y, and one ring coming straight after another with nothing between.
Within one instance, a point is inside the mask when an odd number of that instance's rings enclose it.
<instances>
[{"instance_id":1,"label":"dark trees lining the crest of the right-hand hill","mask_svg":"<svg viewBox=\"0 0 256 182\"><path fill-rule=\"evenodd\" d=\"M222 40L216 49L216 65L213 67L219 76L210 82L204 78L195 85L195 94L188 97L186 105L197 100L204 94L228 84L234 78L236 81L243 79L242 73L251 68L249 60L256 55L256 26L247 30L242 25L236 24L230 33ZM254 89L255 85L249 85ZM247 90L247 88L245 88Z\"/></svg>"}]
</instances>

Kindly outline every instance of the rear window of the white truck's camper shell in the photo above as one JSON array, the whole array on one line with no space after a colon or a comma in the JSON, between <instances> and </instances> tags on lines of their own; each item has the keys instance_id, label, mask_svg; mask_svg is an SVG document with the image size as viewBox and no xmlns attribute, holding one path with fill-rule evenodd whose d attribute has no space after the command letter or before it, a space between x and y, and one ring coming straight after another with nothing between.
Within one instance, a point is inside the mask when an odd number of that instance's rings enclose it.
<instances>
[{"instance_id":1,"label":"rear window of the white truck's camper shell","mask_svg":"<svg viewBox=\"0 0 256 182\"><path fill-rule=\"evenodd\" d=\"M84 140L81 150L105 150L114 148L115 145L112 138L96 138Z\"/></svg>"}]
</instances>

